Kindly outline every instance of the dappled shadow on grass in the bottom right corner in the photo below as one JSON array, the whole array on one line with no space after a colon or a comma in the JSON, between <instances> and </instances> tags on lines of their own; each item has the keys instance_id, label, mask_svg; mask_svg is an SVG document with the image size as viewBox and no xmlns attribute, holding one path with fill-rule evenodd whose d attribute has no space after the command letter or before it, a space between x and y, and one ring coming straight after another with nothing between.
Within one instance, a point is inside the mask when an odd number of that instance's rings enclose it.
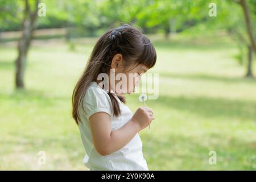
<instances>
[{"instance_id":1,"label":"dappled shadow on grass in the bottom right corner","mask_svg":"<svg viewBox=\"0 0 256 182\"><path fill-rule=\"evenodd\" d=\"M225 135L209 133L195 138L167 133L163 138L144 134L142 140L144 156L155 169L210 169L214 167L208 163L212 150L217 153L216 169L253 169L255 163L255 142Z\"/></svg>"}]
</instances>

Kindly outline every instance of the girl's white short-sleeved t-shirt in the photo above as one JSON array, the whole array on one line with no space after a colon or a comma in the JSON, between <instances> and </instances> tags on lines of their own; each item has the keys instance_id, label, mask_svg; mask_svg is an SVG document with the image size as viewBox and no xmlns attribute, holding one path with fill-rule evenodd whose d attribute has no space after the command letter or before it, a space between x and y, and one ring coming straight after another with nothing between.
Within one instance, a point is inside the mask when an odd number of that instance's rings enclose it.
<instances>
[{"instance_id":1,"label":"girl's white short-sleeved t-shirt","mask_svg":"<svg viewBox=\"0 0 256 182\"><path fill-rule=\"evenodd\" d=\"M128 122L133 113L129 107L124 105L117 96L121 114L115 117L113 114L112 102L108 93L98 86L97 82L91 82L88 90L86 90L82 104L79 106L79 129L82 139L82 144L85 148L86 155L84 156L84 164L90 170L143 170L147 171L147 162L142 153L142 141L137 133L126 146L110 155L102 156L98 154L93 146L92 135L90 133L88 118L97 112L104 111L111 116L111 127L113 130L118 130L126 122Z\"/></svg>"}]
</instances>

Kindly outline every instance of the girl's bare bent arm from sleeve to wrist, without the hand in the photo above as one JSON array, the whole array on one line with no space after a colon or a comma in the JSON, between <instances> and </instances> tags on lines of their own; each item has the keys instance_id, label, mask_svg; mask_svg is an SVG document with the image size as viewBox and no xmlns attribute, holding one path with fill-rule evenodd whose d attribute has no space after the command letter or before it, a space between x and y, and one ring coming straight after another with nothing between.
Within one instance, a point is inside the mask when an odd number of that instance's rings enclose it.
<instances>
[{"instance_id":1,"label":"girl's bare bent arm from sleeve to wrist, without the hand","mask_svg":"<svg viewBox=\"0 0 256 182\"><path fill-rule=\"evenodd\" d=\"M109 155L124 147L139 132L137 122L130 120L118 130L111 131L110 115L104 112L89 118L93 144L100 155Z\"/></svg>"}]
</instances>

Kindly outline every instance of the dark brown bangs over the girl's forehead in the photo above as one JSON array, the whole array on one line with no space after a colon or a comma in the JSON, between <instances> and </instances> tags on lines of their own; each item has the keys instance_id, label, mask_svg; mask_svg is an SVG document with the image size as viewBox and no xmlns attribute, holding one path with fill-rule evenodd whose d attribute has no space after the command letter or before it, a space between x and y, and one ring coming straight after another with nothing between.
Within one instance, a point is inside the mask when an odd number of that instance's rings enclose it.
<instances>
[{"instance_id":1,"label":"dark brown bangs over the girl's forehead","mask_svg":"<svg viewBox=\"0 0 256 182\"><path fill-rule=\"evenodd\" d=\"M156 51L153 44L150 42L150 39L148 39L146 36L143 35L143 44L144 49L141 53L141 55L138 57L138 64L142 64L148 69L154 67L156 62Z\"/></svg>"}]
</instances>

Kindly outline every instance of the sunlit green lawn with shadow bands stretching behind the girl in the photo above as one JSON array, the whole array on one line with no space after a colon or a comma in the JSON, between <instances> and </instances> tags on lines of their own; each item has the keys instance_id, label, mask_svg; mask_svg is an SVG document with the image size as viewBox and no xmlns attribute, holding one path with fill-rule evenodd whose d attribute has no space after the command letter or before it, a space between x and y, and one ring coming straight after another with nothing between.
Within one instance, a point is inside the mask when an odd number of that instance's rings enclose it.
<instances>
[{"instance_id":1,"label":"sunlit green lawn with shadow bands stretching behind the girl","mask_svg":"<svg viewBox=\"0 0 256 182\"><path fill-rule=\"evenodd\" d=\"M140 133L148 168L255 170L256 80L243 78L234 43L225 36L154 42L159 98L147 105L156 119ZM69 51L61 41L36 40L26 90L14 89L15 47L0 44L0 169L86 169L71 94L94 43L84 39ZM127 101L133 111L142 105L138 94ZM216 165L208 163L211 150Z\"/></svg>"}]
</instances>

